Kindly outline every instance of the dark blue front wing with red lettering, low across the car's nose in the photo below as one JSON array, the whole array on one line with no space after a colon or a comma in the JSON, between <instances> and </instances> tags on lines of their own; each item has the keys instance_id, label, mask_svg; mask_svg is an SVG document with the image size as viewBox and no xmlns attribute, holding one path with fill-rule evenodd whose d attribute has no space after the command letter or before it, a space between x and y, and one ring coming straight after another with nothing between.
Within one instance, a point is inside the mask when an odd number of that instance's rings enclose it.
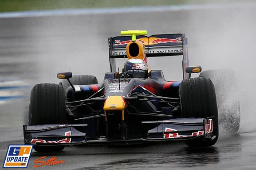
<instances>
[{"instance_id":1,"label":"dark blue front wing with red lettering, low across the car's nose","mask_svg":"<svg viewBox=\"0 0 256 170\"><path fill-rule=\"evenodd\" d=\"M213 121L215 117L179 118L167 121L142 121L143 127L155 128L148 131L147 138L128 140L107 140L106 136L99 136L97 140L90 140L85 132L80 129L90 129L87 124L75 125L24 125L25 144L40 146L78 144L132 144L140 142L172 142L177 140L213 140Z\"/></svg>"}]
</instances>

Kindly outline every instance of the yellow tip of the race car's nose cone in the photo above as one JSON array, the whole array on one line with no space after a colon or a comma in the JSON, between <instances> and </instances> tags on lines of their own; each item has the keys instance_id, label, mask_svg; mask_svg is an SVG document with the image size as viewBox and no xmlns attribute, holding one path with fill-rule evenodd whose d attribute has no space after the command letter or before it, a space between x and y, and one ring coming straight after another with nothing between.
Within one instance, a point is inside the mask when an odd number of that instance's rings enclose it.
<instances>
[{"instance_id":1,"label":"yellow tip of the race car's nose cone","mask_svg":"<svg viewBox=\"0 0 256 170\"><path fill-rule=\"evenodd\" d=\"M125 102L121 96L109 96L105 103L103 110L124 110L125 109Z\"/></svg>"}]
</instances>

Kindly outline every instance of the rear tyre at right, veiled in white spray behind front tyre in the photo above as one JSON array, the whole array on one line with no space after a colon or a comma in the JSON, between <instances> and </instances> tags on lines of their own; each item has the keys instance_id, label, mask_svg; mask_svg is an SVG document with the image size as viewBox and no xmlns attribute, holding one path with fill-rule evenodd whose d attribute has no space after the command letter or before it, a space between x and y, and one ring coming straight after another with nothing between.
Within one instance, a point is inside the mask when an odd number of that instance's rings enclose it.
<instances>
[{"instance_id":1,"label":"rear tyre at right, veiled in white spray behind front tyre","mask_svg":"<svg viewBox=\"0 0 256 170\"><path fill-rule=\"evenodd\" d=\"M206 70L199 77L207 77L214 83L220 125L226 132L237 132L240 127L240 103L237 100L235 73L228 69Z\"/></svg>"}]
</instances>

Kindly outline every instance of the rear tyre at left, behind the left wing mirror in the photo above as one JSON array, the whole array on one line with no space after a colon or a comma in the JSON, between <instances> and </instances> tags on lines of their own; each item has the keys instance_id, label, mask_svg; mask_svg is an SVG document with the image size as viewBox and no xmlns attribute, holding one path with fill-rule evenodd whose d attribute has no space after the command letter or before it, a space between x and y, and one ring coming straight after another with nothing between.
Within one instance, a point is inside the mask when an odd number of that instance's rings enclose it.
<instances>
[{"instance_id":1,"label":"rear tyre at left, behind the left wing mirror","mask_svg":"<svg viewBox=\"0 0 256 170\"><path fill-rule=\"evenodd\" d=\"M91 75L74 75L70 81L73 85L98 84L97 78ZM65 90L67 87L70 87L70 84L66 79L63 79L61 83Z\"/></svg>"}]
</instances>

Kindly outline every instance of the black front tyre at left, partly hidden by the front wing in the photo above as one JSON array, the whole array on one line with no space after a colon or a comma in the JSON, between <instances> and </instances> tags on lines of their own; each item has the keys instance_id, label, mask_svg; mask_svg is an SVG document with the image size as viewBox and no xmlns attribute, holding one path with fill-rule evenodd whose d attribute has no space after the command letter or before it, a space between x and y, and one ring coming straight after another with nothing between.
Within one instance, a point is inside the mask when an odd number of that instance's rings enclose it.
<instances>
[{"instance_id":1,"label":"black front tyre at left, partly hidden by the front wing","mask_svg":"<svg viewBox=\"0 0 256 170\"><path fill-rule=\"evenodd\" d=\"M59 84L43 83L33 87L28 111L29 125L65 124L66 96ZM34 145L38 152L62 151L64 146L42 147Z\"/></svg>"}]
</instances>

